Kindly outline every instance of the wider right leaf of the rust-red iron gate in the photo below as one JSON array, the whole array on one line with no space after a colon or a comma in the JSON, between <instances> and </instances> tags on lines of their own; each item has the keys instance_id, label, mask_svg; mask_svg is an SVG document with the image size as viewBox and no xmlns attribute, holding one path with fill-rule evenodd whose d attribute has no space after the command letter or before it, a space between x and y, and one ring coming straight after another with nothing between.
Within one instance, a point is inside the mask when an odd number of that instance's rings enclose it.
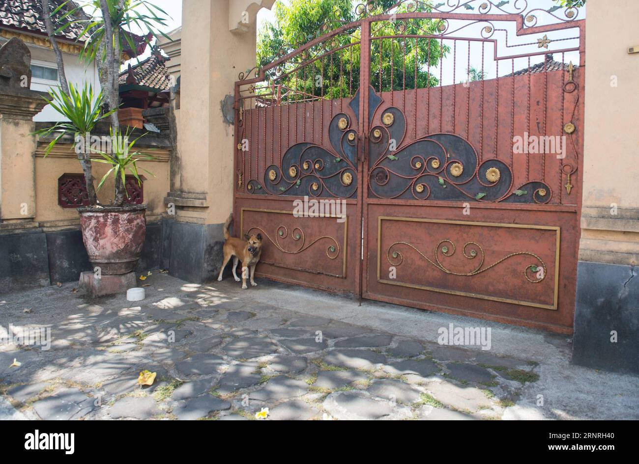
<instances>
[{"instance_id":1,"label":"wider right leaf of the rust-red iron gate","mask_svg":"<svg viewBox=\"0 0 639 464\"><path fill-rule=\"evenodd\" d=\"M583 21L404 5L370 19L363 296L571 333Z\"/></svg>"}]
</instances>

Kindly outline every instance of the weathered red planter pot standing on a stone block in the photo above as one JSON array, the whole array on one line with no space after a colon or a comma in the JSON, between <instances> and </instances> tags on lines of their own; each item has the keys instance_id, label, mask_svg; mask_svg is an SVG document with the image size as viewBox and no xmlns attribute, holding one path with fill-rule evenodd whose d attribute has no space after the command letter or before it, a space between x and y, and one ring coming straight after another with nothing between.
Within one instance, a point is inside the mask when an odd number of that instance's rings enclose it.
<instances>
[{"instance_id":1,"label":"weathered red planter pot standing on a stone block","mask_svg":"<svg viewBox=\"0 0 639 464\"><path fill-rule=\"evenodd\" d=\"M82 241L93 267L102 274L127 274L134 270L146 236L146 205L103 209L82 207Z\"/></svg>"}]
</instances>

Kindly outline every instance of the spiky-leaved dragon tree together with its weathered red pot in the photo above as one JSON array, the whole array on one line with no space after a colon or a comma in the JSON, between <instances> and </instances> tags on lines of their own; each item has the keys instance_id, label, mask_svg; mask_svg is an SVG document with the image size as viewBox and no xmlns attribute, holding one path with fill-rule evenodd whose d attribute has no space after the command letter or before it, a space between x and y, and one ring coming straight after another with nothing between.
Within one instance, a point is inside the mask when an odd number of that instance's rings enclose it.
<instances>
[{"instance_id":1,"label":"spiky-leaved dragon tree together with its weathered red pot","mask_svg":"<svg viewBox=\"0 0 639 464\"><path fill-rule=\"evenodd\" d=\"M93 8L93 13L87 15L85 8ZM137 163L152 158L135 151L135 144L143 135L130 141L130 131L120 129L119 68L126 57L123 49L127 54L135 55L144 48L140 47L140 42L135 43L135 39L150 45L151 38L157 38L155 27L166 26L164 18L158 14L166 13L144 0L94 0L82 6L72 1L42 0L42 9L60 77L59 89L50 90L46 100L68 121L44 128L38 131L38 135L51 138L45 156L63 138L75 140L75 151L88 194L88 204L78 208L78 212L89 262L100 267L101 274L127 274L134 270L144 244L146 205L127 204L125 172L132 174L140 183ZM79 40L84 41L84 47L81 58L89 63L96 61L102 87L99 93L94 93L87 84L78 88L66 80L56 35L72 24L82 25ZM132 27L147 33L137 36L130 30ZM109 137L102 137L107 139L106 144L95 146L90 142L93 140L91 133L100 121L108 121ZM96 162L109 166L98 184L98 190L109 176L114 179L114 198L109 204L100 204L96 195L91 166Z\"/></svg>"}]
</instances>

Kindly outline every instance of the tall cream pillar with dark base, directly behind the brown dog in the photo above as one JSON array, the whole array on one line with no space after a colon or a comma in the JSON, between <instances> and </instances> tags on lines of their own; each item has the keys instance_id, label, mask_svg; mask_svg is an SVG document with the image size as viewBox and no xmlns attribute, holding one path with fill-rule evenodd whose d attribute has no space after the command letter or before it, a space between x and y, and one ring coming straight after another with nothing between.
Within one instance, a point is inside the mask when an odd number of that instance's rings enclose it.
<instances>
[{"instance_id":1,"label":"tall cream pillar with dark base, directly behind the brown dog","mask_svg":"<svg viewBox=\"0 0 639 464\"><path fill-rule=\"evenodd\" d=\"M252 4L245 27L240 3ZM265 3L271 3L265 2ZM255 2L189 0L182 3L180 109L176 190L166 204L164 266L184 280L203 282L219 273L222 227L233 207L234 84L256 64ZM270 5L268 5L270 6ZM240 11L233 23L229 17ZM247 17L245 15L245 17ZM230 99L230 100L229 100ZM225 104L226 101L226 104ZM176 173L172 174L176 175Z\"/></svg>"}]
</instances>

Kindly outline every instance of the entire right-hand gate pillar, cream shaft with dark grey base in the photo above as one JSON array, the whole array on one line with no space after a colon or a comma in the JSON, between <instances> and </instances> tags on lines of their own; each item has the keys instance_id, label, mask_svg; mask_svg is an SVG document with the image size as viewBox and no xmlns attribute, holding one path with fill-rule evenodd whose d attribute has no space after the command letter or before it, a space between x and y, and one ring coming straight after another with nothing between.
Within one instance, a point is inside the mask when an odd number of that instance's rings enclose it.
<instances>
[{"instance_id":1,"label":"entire right-hand gate pillar, cream shaft with dark grey base","mask_svg":"<svg viewBox=\"0 0 639 464\"><path fill-rule=\"evenodd\" d=\"M573 362L639 372L639 3L614 3L587 3Z\"/></svg>"}]
</instances>

